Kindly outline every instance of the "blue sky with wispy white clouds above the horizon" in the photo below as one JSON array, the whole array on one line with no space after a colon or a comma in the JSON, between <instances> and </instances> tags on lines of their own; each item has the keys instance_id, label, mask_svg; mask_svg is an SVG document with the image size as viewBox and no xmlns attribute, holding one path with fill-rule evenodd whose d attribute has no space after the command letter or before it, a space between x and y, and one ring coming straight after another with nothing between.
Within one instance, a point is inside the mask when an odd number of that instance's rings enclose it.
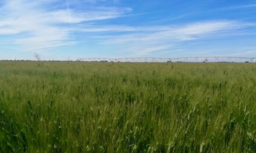
<instances>
[{"instance_id":1,"label":"blue sky with wispy white clouds above the horizon","mask_svg":"<svg viewBox=\"0 0 256 153\"><path fill-rule=\"evenodd\" d=\"M256 57L255 1L1 0L0 60Z\"/></svg>"}]
</instances>

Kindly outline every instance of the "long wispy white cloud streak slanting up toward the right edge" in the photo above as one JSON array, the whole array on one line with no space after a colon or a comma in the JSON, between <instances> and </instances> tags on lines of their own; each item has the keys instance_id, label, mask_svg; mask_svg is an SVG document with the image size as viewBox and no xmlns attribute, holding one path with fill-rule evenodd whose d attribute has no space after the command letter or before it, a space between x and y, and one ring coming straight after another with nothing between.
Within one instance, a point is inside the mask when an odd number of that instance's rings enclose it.
<instances>
[{"instance_id":1,"label":"long wispy white cloud streak slanting up toward the right edge","mask_svg":"<svg viewBox=\"0 0 256 153\"><path fill-rule=\"evenodd\" d=\"M154 30L152 30L152 27L137 27L139 29L137 32L105 35L102 37L102 42L119 46L123 49L123 52L131 53L131 56L146 56L153 52L170 50L177 43L217 37L223 34L234 34L234 31L250 25L237 21L222 20L154 27ZM131 30L136 31L136 28L133 27Z\"/></svg>"}]
</instances>

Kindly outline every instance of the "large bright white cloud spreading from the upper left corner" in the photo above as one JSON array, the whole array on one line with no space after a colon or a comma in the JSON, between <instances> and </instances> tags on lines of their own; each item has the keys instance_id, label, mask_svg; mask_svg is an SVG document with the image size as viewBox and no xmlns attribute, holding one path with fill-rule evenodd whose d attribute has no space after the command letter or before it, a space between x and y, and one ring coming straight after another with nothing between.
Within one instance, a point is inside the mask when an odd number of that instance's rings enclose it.
<instances>
[{"instance_id":1,"label":"large bright white cloud spreading from the upper left corner","mask_svg":"<svg viewBox=\"0 0 256 153\"><path fill-rule=\"evenodd\" d=\"M55 1L4 1L0 8L0 35L22 34L13 44L23 50L63 46L74 42L70 26L113 19L131 11L130 8L47 9L46 5Z\"/></svg>"}]
</instances>

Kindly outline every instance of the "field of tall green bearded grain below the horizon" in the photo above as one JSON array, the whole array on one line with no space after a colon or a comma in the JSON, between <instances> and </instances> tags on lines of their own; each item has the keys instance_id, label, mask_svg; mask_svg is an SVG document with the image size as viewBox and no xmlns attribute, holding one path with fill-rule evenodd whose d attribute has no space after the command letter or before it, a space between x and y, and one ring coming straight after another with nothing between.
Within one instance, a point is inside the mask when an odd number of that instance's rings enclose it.
<instances>
[{"instance_id":1,"label":"field of tall green bearded grain below the horizon","mask_svg":"<svg viewBox=\"0 0 256 153\"><path fill-rule=\"evenodd\" d=\"M256 152L256 64L0 61L0 152Z\"/></svg>"}]
</instances>

